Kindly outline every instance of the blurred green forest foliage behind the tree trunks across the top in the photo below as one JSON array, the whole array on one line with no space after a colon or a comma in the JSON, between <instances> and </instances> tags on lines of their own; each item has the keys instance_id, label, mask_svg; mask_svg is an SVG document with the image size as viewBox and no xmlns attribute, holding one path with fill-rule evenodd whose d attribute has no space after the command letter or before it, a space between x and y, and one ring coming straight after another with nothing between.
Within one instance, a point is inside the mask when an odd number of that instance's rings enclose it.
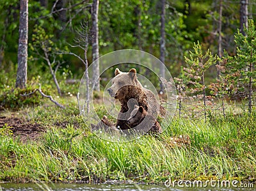
<instances>
[{"instance_id":1,"label":"blurred green forest foliage behind the tree trunks across the top","mask_svg":"<svg viewBox=\"0 0 256 191\"><path fill-rule=\"evenodd\" d=\"M49 49L52 52L58 47L65 50L67 42L74 40L74 29L86 20L90 29L92 23L90 18L90 6L92 1L84 2L73 0L70 3L63 3L61 8L67 11L58 11L60 7L53 8L55 1L47 1L46 6L42 6L40 1L29 2L29 49L28 54L31 60L28 62L31 77L47 75L44 60L36 55L35 40L45 41L49 38ZM70 8L70 6L73 6ZM238 0L227 3L223 7L223 47L228 53L234 54L233 34L239 26L239 6ZM61 4L61 3L60 3ZM216 19L218 19L218 2L212 1L166 1L166 66L172 70L172 75L177 77L180 66L184 63L184 56L189 55L189 50L193 47L193 42L199 40L204 47L209 47L212 52L216 52L217 41ZM87 7L86 7L87 6ZM70 9L68 9L70 8ZM125 8L125 11L120 11ZM255 12L255 5L250 4L250 8ZM17 66L17 42L19 27L19 1L6 0L0 3L0 67L4 71L10 72L9 68ZM51 13L51 11L57 11ZM99 46L100 54L106 54L118 49L141 49L159 57L160 42L160 1L102 1L99 4ZM64 13L65 12L65 13ZM62 18L64 17L64 18ZM120 22L122 20L122 22ZM40 30L38 30L40 29ZM42 30L41 30L42 29ZM89 42L92 40L89 34ZM53 45L52 43L53 42ZM47 44L47 43L46 43ZM38 44L39 45L39 44ZM39 45L38 48L45 45ZM91 45L88 49L88 63L92 62ZM83 54L81 50L74 48L77 55ZM38 54L44 56L42 51ZM57 58L58 57L58 58ZM59 56L56 61L62 61ZM3 59L2 59L3 58ZM32 59L33 58L33 59ZM51 57L51 61L53 58ZM60 67L60 75L63 68L67 68L79 79L83 75L83 63L76 57L63 56L63 67ZM57 64L58 62L56 62ZM56 64L52 67L55 68ZM10 67L11 66L11 67ZM108 73L110 78L113 73ZM71 78L71 77L70 77ZM210 77L210 80L212 76ZM0 79L1 80L1 79ZM47 79L48 80L48 79ZM65 86L63 86L65 88ZM68 91L67 91L68 92Z\"/></svg>"}]
</instances>

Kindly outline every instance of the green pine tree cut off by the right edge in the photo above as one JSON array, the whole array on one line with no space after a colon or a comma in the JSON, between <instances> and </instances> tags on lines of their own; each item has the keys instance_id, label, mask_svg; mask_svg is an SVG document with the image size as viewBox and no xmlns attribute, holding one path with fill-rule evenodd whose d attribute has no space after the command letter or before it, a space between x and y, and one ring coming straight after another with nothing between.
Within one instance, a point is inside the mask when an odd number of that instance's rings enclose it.
<instances>
[{"instance_id":1,"label":"green pine tree cut off by the right edge","mask_svg":"<svg viewBox=\"0 0 256 191\"><path fill-rule=\"evenodd\" d=\"M225 54L225 72L227 79L232 84L230 91L234 95L248 99L248 112L252 112L253 90L256 82L256 31L253 20L248 20L248 29L244 25L244 34L237 29L235 43L237 55L234 57Z\"/></svg>"}]
</instances>

